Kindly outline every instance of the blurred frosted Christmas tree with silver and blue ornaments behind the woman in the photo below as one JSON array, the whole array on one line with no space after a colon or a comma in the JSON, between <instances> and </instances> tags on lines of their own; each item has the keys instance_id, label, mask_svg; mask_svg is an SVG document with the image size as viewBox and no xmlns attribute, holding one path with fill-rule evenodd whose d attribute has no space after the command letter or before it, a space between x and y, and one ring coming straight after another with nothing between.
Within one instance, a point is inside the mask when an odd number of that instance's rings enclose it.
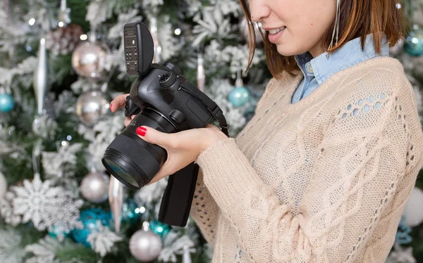
<instances>
[{"instance_id":1,"label":"blurred frosted Christmas tree with silver and blue ornaments behind the woman","mask_svg":"<svg viewBox=\"0 0 423 263\"><path fill-rule=\"evenodd\" d=\"M224 111L231 136L255 113L271 75L238 0L2 0L0 3L0 262L210 262L189 219L157 222L166 179L133 191L101 163L123 129L109 103L128 93L123 25L142 21L154 62L169 60ZM422 114L423 1L398 1L410 30L391 48ZM421 118L421 120L423 120ZM423 262L423 180L387 262ZM142 245L140 245L142 244Z\"/></svg>"}]
</instances>

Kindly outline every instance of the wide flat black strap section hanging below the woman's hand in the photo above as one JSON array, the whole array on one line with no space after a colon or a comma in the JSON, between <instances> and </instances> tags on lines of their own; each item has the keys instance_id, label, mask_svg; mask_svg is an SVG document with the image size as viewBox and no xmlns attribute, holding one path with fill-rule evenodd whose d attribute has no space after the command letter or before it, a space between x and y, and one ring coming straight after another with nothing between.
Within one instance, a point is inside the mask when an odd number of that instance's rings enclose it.
<instances>
[{"instance_id":1,"label":"wide flat black strap section hanging below the woman's hand","mask_svg":"<svg viewBox=\"0 0 423 263\"><path fill-rule=\"evenodd\" d=\"M194 162L168 177L161 199L159 222L185 226L190 216L199 167Z\"/></svg>"}]
</instances>

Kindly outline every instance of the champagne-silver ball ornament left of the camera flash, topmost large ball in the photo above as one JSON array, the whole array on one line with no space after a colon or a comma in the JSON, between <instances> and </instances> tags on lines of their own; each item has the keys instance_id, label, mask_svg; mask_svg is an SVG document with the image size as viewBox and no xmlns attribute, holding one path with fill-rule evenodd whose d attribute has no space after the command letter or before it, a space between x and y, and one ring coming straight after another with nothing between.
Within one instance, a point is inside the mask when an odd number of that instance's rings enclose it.
<instances>
[{"instance_id":1,"label":"champagne-silver ball ornament left of the camera flash, topmost large ball","mask_svg":"<svg viewBox=\"0 0 423 263\"><path fill-rule=\"evenodd\" d=\"M82 42L72 53L72 67L83 77L102 79L109 48L98 42Z\"/></svg>"}]
</instances>

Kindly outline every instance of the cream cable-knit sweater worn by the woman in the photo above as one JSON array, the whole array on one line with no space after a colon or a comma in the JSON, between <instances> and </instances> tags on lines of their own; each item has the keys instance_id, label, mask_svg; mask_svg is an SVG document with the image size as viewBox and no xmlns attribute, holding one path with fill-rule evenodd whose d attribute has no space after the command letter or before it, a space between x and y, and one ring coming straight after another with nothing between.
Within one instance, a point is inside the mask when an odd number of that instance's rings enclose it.
<instances>
[{"instance_id":1,"label":"cream cable-knit sweater worn by the woman","mask_svg":"<svg viewBox=\"0 0 423 263\"><path fill-rule=\"evenodd\" d=\"M402 65L372 58L291 104L301 78L271 79L236 139L197 159L213 262L384 262L393 245L423 165Z\"/></svg>"}]
</instances>

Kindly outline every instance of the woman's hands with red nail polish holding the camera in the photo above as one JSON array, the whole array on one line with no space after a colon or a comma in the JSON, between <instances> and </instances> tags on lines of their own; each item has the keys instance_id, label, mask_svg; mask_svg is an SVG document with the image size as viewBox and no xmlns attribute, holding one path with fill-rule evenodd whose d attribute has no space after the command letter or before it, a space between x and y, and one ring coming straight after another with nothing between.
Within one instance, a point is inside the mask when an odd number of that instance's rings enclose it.
<instances>
[{"instance_id":1,"label":"woman's hands with red nail polish holding the camera","mask_svg":"<svg viewBox=\"0 0 423 263\"><path fill-rule=\"evenodd\" d=\"M111 102L110 110L112 113L125 105L125 98L128 95L119 95ZM125 126L134 117L135 115L126 117ZM144 141L157 144L167 151L166 162L149 184L178 172L197 160L198 155L213 143L228 138L218 127L212 124L208 124L205 128L188 129L174 134L166 134L150 127L141 126L137 128L137 134Z\"/></svg>"}]
</instances>

